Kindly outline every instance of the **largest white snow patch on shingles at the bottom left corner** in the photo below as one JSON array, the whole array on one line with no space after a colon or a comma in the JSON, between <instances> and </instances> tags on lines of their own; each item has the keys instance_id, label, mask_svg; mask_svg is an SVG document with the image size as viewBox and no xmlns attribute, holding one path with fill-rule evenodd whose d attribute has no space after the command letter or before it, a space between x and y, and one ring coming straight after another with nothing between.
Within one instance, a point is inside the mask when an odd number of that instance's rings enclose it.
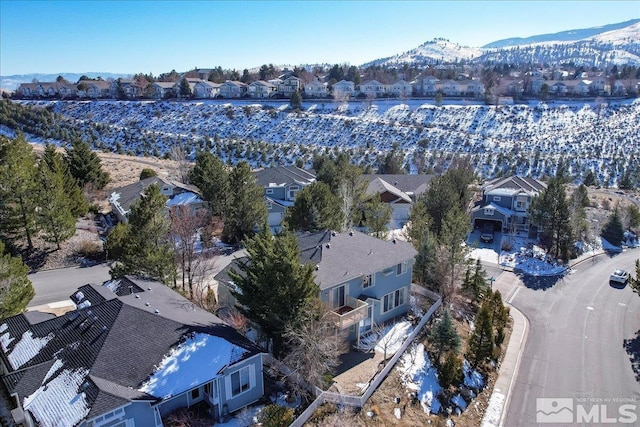
<instances>
[{"instance_id":1,"label":"largest white snow patch on shingles at the bottom left corner","mask_svg":"<svg viewBox=\"0 0 640 427\"><path fill-rule=\"evenodd\" d=\"M64 369L47 382L61 368L62 362L57 360L42 385L24 399L25 411L31 412L41 427L74 426L89 413L85 392L78 393L89 370Z\"/></svg>"}]
</instances>

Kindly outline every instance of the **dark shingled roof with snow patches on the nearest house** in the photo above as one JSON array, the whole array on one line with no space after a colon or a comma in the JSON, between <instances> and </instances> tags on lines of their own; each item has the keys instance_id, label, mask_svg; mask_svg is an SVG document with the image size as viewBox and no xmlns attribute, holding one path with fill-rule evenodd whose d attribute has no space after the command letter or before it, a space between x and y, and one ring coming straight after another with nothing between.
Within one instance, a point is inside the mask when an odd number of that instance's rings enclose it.
<instances>
[{"instance_id":1,"label":"dark shingled roof with snow patches on the nearest house","mask_svg":"<svg viewBox=\"0 0 640 427\"><path fill-rule=\"evenodd\" d=\"M77 425L131 401L170 397L166 389L144 384L176 348L193 337L216 343L207 347L205 356L226 365L262 352L166 286L124 280L141 291L118 296L118 286L109 281L102 291L112 295L104 298L96 290L98 285L88 285L82 292L95 291L96 303L91 306L35 325L23 314L0 324L0 356L11 371L3 381L41 426ZM222 347L224 354L219 354L216 348ZM203 375L198 370L184 371L181 375ZM218 371L203 371L208 375L205 380L215 378ZM189 385L194 384L176 380L171 392L182 393Z\"/></svg>"}]
</instances>

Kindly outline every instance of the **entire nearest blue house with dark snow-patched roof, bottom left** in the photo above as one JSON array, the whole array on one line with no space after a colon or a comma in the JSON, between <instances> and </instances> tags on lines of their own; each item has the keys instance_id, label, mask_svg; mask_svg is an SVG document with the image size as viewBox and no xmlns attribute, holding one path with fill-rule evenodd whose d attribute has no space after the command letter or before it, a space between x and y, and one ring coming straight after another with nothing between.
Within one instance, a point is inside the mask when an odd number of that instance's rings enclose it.
<instances>
[{"instance_id":1,"label":"entire nearest blue house with dark snow-patched roof, bottom left","mask_svg":"<svg viewBox=\"0 0 640 427\"><path fill-rule=\"evenodd\" d=\"M24 426L162 426L205 402L222 420L264 394L258 346L169 287L85 285L77 309L0 321L0 374Z\"/></svg>"}]
</instances>

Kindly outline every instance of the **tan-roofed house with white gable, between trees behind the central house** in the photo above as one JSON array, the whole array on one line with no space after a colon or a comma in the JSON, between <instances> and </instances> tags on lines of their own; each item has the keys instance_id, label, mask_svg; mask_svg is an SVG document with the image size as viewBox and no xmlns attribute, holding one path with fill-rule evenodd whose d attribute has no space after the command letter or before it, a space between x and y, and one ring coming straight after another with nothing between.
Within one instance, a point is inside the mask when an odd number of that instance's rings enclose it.
<instances>
[{"instance_id":1,"label":"tan-roofed house with white gable, between trees behind the central house","mask_svg":"<svg viewBox=\"0 0 640 427\"><path fill-rule=\"evenodd\" d=\"M391 206L390 228L401 228L409 221L409 214L418 197L429 187L432 175L367 174L366 193L377 195L380 201Z\"/></svg>"}]
</instances>

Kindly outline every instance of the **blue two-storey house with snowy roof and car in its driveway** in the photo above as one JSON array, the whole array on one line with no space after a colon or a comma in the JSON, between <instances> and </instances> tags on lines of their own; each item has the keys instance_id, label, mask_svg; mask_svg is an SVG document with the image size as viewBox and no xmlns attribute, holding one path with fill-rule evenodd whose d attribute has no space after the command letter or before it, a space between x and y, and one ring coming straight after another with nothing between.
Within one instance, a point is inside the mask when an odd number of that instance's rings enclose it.
<instances>
[{"instance_id":1,"label":"blue two-storey house with snowy roof and car in its driveway","mask_svg":"<svg viewBox=\"0 0 640 427\"><path fill-rule=\"evenodd\" d=\"M471 210L475 228L485 223L503 232L524 231L532 235L537 228L529 221L531 200L538 196L546 184L534 178L512 176L495 178L482 186L482 200Z\"/></svg>"}]
</instances>

